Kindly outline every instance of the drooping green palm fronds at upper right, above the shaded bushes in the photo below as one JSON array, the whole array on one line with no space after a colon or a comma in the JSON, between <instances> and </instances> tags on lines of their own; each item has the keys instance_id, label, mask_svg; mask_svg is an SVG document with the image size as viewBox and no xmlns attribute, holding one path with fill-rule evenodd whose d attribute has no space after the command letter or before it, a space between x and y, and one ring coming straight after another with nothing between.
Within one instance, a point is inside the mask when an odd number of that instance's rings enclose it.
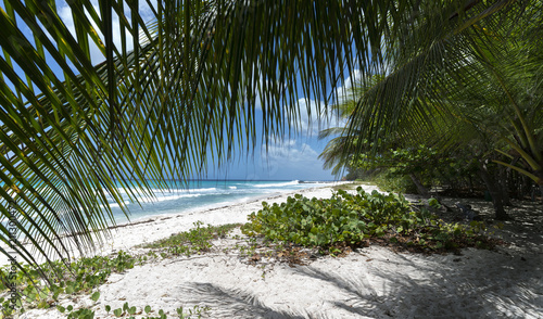
<instances>
[{"instance_id":1,"label":"drooping green palm fronds at upper right, above the shaded bushes","mask_svg":"<svg viewBox=\"0 0 543 319\"><path fill-rule=\"evenodd\" d=\"M484 131L508 140L514 132L523 145L515 140L508 144L539 171L535 161L528 160L541 154L535 146L538 128L528 128L523 119L541 110L535 106L541 105L541 98L534 94L541 67L530 66L541 65L536 49L543 36L541 1L471 1L459 14L454 4L437 9L421 3L422 18L415 21L413 33L397 38L388 50L386 78L357 101L345 130L345 154L362 151L356 144L361 137L377 142L391 135L408 139L422 133L446 136L454 132L451 125L462 120L476 135ZM523 72L522 79L515 75L526 68L530 71ZM531 106L517 107L518 100L527 97ZM452 141L472 138L457 136Z\"/></svg>"}]
</instances>

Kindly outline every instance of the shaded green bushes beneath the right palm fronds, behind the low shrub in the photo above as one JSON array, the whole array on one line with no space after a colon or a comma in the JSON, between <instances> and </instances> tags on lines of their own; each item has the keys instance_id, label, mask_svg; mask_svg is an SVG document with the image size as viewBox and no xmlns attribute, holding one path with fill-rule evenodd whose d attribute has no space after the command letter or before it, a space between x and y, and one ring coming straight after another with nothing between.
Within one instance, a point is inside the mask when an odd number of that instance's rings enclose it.
<instances>
[{"instance_id":1,"label":"shaded green bushes beneath the right palm fronds, behind the low shrub","mask_svg":"<svg viewBox=\"0 0 543 319\"><path fill-rule=\"evenodd\" d=\"M371 181L383 191L429 195L433 189L455 196L481 195L484 191L477 175L477 158L469 150L391 145L378 153L353 154L348 167L354 173L351 179Z\"/></svg>"}]
</instances>

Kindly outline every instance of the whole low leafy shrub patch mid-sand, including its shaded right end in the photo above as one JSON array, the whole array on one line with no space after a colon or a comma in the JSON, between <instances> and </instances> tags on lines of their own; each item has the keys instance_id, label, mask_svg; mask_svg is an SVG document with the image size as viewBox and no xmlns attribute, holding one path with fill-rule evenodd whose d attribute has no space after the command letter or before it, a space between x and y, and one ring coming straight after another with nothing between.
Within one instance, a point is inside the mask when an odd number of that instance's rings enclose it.
<instances>
[{"instance_id":1,"label":"whole low leafy shrub patch mid-sand, including its shaded right end","mask_svg":"<svg viewBox=\"0 0 543 319\"><path fill-rule=\"evenodd\" d=\"M435 200L430 204L439 205ZM386 239L428 252L491 244L478 233L482 229L479 224L473 224L476 228L449 225L426 208L414 209L401 195L368 194L361 187L355 194L339 190L327 200L298 194L280 205L263 202L263 208L251 214L249 221L242 227L248 235L328 252L365 245L368 239Z\"/></svg>"}]
</instances>

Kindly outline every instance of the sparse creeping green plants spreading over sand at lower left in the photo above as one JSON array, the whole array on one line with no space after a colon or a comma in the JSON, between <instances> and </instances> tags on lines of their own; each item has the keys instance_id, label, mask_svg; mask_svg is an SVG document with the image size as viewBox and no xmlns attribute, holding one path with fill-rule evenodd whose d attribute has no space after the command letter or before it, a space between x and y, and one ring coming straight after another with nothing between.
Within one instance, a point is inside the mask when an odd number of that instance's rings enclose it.
<instances>
[{"instance_id":1,"label":"sparse creeping green plants spreading over sand at lower left","mask_svg":"<svg viewBox=\"0 0 543 319\"><path fill-rule=\"evenodd\" d=\"M92 293L92 290L106 282L113 272L123 272L151 260L168 258L178 255L190 256L207 252L212 243L217 238L224 238L231 229L239 225L224 225L217 227L202 227L201 221L194 222L195 228L174 234L168 239L144 245L150 248L146 254L134 256L127 252L119 251L110 256L83 257L74 261L55 260L40 265L40 273L29 265L23 265L18 271L13 271L11 265L0 269L0 318L12 318L15 314L23 314L26 309L47 309L56 307L61 312L65 312L68 318L93 318L90 309L74 309L73 306L60 306L62 297L76 294L91 294L94 302L100 294ZM49 278L49 283L42 278ZM10 288L16 288L17 296L11 298ZM108 306L106 306L108 307ZM128 309L115 309L116 317L135 318L134 307ZM150 307L146 307L150 309ZM200 318L202 309L191 308L184 312L182 307L178 310L178 318ZM197 311L198 310L198 311ZM207 308L205 308L207 310ZM109 310L108 310L109 311ZM180 311L180 312L179 312ZM148 311L146 311L148 312ZM148 312L149 314L149 312ZM117 316L118 315L118 316ZM164 311L160 310L157 317L144 318L166 318Z\"/></svg>"}]
</instances>

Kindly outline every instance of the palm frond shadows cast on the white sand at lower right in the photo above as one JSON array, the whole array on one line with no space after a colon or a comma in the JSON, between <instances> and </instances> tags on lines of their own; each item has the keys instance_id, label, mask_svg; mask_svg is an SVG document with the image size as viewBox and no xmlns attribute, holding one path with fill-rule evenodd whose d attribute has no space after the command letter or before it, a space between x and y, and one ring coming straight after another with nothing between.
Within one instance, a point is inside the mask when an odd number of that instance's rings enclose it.
<instances>
[{"instance_id":1,"label":"palm frond shadows cast on the white sand at lower right","mask_svg":"<svg viewBox=\"0 0 543 319\"><path fill-rule=\"evenodd\" d=\"M515 239L513 245L495 252L422 256L374 246L362 251L369 257L352 254L327 260L327 268L318 260L289 268L346 296L324 301L332 305L328 312L266 305L247 291L210 283L184 289L191 291L192 303L216 305L212 318L542 318L543 214L541 206L519 209L526 212L517 212L502 230L504 238Z\"/></svg>"}]
</instances>

